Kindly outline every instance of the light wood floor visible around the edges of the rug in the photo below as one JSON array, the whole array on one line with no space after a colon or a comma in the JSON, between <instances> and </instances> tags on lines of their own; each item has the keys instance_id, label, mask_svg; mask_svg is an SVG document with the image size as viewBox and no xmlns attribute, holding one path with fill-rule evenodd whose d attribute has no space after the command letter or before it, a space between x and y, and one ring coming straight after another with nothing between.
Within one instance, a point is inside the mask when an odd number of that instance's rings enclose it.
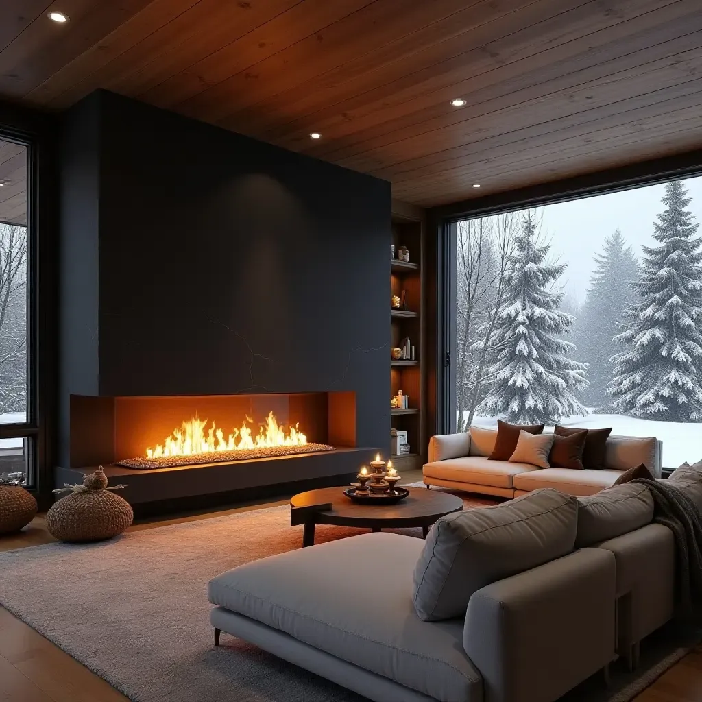
<instances>
[{"instance_id":1,"label":"light wood floor visible around the edges of the rug","mask_svg":"<svg viewBox=\"0 0 702 702\"><path fill-rule=\"evenodd\" d=\"M407 476L411 480L420 475ZM408 480L409 482L409 480ZM261 506L284 505L288 498L250 503L205 515L183 515L134 524L130 531L232 514ZM0 538L0 551L51 543L43 515L27 529ZM125 702L127 698L60 648L0 607L0 702ZM702 702L702 646L668 670L637 702Z\"/></svg>"}]
</instances>

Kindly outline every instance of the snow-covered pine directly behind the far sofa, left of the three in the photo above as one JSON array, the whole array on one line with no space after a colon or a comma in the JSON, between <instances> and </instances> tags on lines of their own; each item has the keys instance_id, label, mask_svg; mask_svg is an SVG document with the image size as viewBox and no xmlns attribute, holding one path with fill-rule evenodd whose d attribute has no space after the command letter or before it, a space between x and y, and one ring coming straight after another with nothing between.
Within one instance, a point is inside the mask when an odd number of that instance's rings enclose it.
<instances>
[{"instance_id":1,"label":"snow-covered pine directly behind the far sofa, left of the three","mask_svg":"<svg viewBox=\"0 0 702 702\"><path fill-rule=\"evenodd\" d=\"M588 383L585 366L569 358L574 344L559 338L574 320L558 309L563 293L551 291L566 266L547 263L550 246L537 239L534 213L527 211L489 340L489 393L477 409L522 424L587 413L574 395Z\"/></svg>"}]
</instances>

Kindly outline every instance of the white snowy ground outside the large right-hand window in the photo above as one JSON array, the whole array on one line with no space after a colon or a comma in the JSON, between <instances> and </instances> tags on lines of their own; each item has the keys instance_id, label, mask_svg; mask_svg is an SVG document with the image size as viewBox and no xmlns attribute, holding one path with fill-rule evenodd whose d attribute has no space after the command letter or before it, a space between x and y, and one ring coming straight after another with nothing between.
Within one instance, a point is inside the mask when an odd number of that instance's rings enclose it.
<instances>
[{"instance_id":1,"label":"white snowy ground outside the large right-hand window","mask_svg":"<svg viewBox=\"0 0 702 702\"><path fill-rule=\"evenodd\" d=\"M468 418L467 412L465 417ZM479 427L496 428L497 419L495 417L474 417L473 424ZM702 423L655 422L618 414L588 414L585 417L569 417L559 424L586 429L611 427L613 434L661 439L665 468L677 468L685 461L696 463L696 461L702 460Z\"/></svg>"}]
</instances>

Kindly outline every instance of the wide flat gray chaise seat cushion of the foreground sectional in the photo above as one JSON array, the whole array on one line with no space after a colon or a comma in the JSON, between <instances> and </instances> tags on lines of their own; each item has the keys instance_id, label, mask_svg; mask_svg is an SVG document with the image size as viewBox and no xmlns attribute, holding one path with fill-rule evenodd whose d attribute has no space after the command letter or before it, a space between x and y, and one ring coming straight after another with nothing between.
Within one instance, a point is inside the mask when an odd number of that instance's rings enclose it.
<instances>
[{"instance_id":1,"label":"wide flat gray chaise seat cushion of the foreground sectional","mask_svg":"<svg viewBox=\"0 0 702 702\"><path fill-rule=\"evenodd\" d=\"M412 606L424 542L364 534L253 561L210 581L209 600L443 702L482 699L463 621Z\"/></svg>"}]
</instances>

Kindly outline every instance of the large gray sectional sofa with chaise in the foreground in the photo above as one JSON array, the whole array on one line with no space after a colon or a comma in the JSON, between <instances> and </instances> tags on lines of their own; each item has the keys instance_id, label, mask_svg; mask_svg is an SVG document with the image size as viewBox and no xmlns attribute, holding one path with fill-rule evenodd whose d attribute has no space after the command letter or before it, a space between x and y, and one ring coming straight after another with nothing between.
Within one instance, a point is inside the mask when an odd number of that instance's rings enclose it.
<instances>
[{"instance_id":1,"label":"large gray sectional sofa with chaise in the foreground","mask_svg":"<svg viewBox=\"0 0 702 702\"><path fill-rule=\"evenodd\" d=\"M682 477L702 508L702 470ZM644 484L541 489L443 517L426 541L264 558L209 584L216 642L241 637L378 702L552 702L617 655L635 664L673 616L675 545L653 516Z\"/></svg>"}]
</instances>

